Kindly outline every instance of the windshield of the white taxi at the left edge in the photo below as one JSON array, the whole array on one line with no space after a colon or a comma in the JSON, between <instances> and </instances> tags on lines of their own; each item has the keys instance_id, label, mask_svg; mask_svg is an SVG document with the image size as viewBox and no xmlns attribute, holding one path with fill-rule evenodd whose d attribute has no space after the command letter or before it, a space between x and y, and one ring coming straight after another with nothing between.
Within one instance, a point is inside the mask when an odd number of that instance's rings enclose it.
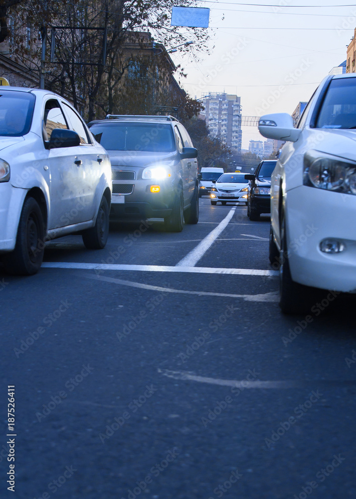
<instances>
[{"instance_id":1,"label":"windshield of the white taxi at the left edge","mask_svg":"<svg viewBox=\"0 0 356 499\"><path fill-rule=\"evenodd\" d=\"M0 91L0 136L20 137L29 132L35 97L28 92Z\"/></svg>"}]
</instances>

